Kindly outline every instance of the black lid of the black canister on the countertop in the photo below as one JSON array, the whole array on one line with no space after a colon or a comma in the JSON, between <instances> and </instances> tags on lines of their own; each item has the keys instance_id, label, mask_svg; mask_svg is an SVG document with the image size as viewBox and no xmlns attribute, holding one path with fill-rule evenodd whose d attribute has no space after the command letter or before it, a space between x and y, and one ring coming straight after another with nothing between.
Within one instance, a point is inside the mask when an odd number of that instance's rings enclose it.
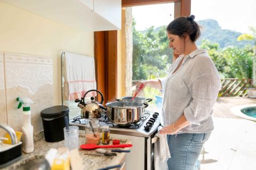
<instances>
[{"instance_id":1,"label":"black lid of the black canister on the countertop","mask_svg":"<svg viewBox=\"0 0 256 170\"><path fill-rule=\"evenodd\" d=\"M66 116L69 113L68 106L52 106L41 111L42 118L58 118Z\"/></svg>"}]
</instances>

